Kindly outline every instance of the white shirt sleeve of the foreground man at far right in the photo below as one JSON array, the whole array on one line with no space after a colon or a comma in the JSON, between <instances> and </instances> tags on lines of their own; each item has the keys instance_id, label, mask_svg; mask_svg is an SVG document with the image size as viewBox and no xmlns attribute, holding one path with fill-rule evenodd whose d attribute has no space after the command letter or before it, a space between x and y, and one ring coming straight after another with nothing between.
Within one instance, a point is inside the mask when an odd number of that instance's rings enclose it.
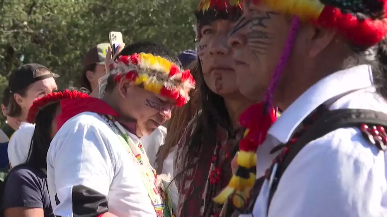
<instances>
[{"instance_id":1,"label":"white shirt sleeve of the foreground man at far right","mask_svg":"<svg viewBox=\"0 0 387 217\"><path fill-rule=\"evenodd\" d=\"M300 151L279 182L269 217L387 216L387 156L353 131L340 129L340 137L327 134ZM351 139L340 139L348 132Z\"/></svg>"}]
</instances>

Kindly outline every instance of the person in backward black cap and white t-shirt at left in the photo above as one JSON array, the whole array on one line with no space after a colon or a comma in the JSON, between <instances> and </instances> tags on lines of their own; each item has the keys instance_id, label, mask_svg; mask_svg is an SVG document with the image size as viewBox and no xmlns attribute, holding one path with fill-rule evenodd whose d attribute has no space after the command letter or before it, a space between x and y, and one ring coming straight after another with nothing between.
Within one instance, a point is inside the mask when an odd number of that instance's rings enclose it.
<instances>
[{"instance_id":1,"label":"person in backward black cap and white t-shirt at left","mask_svg":"<svg viewBox=\"0 0 387 217\"><path fill-rule=\"evenodd\" d=\"M8 82L11 96L6 113L10 117L19 117L22 121L20 128L10 138L8 145L11 167L25 163L27 159L35 129L34 125L25 122L29 107L36 98L58 89L55 82L57 77L59 75L36 63L25 64L19 70L11 73Z\"/></svg>"}]
</instances>

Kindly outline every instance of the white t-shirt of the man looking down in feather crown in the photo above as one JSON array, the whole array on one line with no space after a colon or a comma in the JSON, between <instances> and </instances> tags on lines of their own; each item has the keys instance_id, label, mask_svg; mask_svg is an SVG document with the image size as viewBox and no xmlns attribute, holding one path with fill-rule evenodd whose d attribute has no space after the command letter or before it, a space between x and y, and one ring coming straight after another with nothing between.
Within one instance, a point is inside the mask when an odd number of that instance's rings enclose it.
<instances>
[{"instance_id":1,"label":"white t-shirt of the man looking down in feather crown","mask_svg":"<svg viewBox=\"0 0 387 217\"><path fill-rule=\"evenodd\" d=\"M120 217L156 216L137 168L122 141L98 114L83 112L71 118L55 135L47 153L54 214L98 216L108 201L108 212Z\"/></svg>"}]
</instances>

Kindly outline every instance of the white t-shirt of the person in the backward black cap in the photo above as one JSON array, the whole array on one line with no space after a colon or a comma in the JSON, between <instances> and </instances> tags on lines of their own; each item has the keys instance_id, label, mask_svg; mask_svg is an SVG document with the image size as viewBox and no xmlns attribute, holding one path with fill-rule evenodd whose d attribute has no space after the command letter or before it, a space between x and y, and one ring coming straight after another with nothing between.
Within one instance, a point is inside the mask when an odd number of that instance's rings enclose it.
<instances>
[{"instance_id":1,"label":"white t-shirt of the person in the backward black cap","mask_svg":"<svg viewBox=\"0 0 387 217\"><path fill-rule=\"evenodd\" d=\"M8 158L11 167L26 163L35 124L22 122L17 131L12 134L8 144Z\"/></svg>"}]
</instances>

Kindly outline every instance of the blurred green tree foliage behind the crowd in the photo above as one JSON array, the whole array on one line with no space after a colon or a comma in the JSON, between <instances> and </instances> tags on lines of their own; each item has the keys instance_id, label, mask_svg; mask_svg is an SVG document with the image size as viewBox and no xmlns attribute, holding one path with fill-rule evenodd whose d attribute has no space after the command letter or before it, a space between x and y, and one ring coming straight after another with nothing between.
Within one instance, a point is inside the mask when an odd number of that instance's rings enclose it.
<instances>
[{"instance_id":1,"label":"blurred green tree foliage behind the crowd","mask_svg":"<svg viewBox=\"0 0 387 217\"><path fill-rule=\"evenodd\" d=\"M178 53L194 48L196 0L0 0L0 97L12 70L40 63L78 84L83 55L120 31Z\"/></svg>"}]
</instances>

